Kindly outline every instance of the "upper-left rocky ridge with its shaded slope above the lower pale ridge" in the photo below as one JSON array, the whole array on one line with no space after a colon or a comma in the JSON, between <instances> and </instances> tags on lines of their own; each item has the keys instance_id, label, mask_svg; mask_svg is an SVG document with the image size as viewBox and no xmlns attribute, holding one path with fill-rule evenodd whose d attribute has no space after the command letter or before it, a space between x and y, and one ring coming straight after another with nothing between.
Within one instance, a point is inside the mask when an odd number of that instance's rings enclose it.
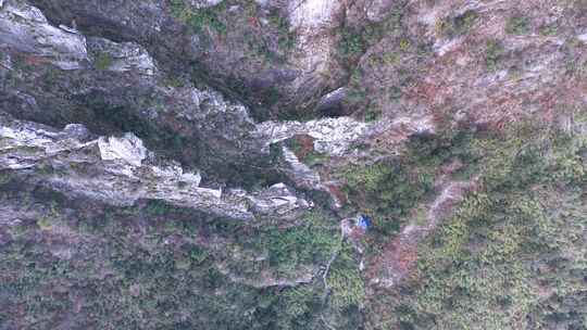
<instances>
[{"instance_id":1,"label":"upper-left rocky ridge with its shaded slope above the lower pale ridge","mask_svg":"<svg viewBox=\"0 0 587 330\"><path fill-rule=\"evenodd\" d=\"M218 181L222 181L222 173L236 166L236 162L247 166L260 160L258 153L253 154L252 150L247 153L241 145L253 127L245 106L205 87L197 89L182 79L170 82L160 74L155 61L137 43L117 43L97 37L86 41L79 33L52 28L37 9L11 3L17 2L7 2L2 11L18 8L27 17L38 16L38 20L25 22L43 40L42 45L0 45L5 50L5 56L0 59L3 77L0 104L13 116L54 127L82 123L103 135L133 130L151 148L162 151L170 151L170 143L185 141L190 149L176 150L167 156L207 169ZM7 14L7 26L20 26L13 22L15 17ZM61 41L42 35L47 28L48 33L60 31L83 46L85 60L78 62L76 69L63 72L45 63L45 56L66 59L59 52ZM18 40L23 31L11 28L2 33L7 40ZM25 46L28 50L23 48ZM236 154L238 161L234 157Z\"/></svg>"}]
</instances>

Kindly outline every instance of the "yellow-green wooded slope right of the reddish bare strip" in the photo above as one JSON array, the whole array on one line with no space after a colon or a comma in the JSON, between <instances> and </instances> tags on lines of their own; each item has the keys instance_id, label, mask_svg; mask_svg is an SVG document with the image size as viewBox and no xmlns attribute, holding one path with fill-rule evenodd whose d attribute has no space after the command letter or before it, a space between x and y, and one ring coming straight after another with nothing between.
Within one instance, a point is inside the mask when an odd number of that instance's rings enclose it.
<instances>
[{"instance_id":1,"label":"yellow-green wooded slope right of the reddish bare strip","mask_svg":"<svg viewBox=\"0 0 587 330\"><path fill-rule=\"evenodd\" d=\"M401 299L375 302L373 328L585 329L586 142L546 127L475 140L480 189L421 244Z\"/></svg>"}]
</instances>

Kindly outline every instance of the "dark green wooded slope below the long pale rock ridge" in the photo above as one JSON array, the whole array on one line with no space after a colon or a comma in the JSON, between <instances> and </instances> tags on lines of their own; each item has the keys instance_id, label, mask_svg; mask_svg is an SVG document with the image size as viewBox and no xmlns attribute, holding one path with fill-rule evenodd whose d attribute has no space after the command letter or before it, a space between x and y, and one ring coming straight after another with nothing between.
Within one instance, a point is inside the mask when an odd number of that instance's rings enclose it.
<instances>
[{"instance_id":1,"label":"dark green wooded slope below the long pale rock ridge","mask_svg":"<svg viewBox=\"0 0 587 330\"><path fill-rule=\"evenodd\" d=\"M151 201L96 215L2 178L3 202L37 201L23 207L42 214L12 226L0 253L0 323L8 329L309 329L334 316L358 320L342 312L358 310L362 280L326 214L294 227L251 226ZM340 249L328 294L317 266ZM252 284L263 283L260 271L295 281L300 269L315 278L295 288ZM15 323L9 314L22 317Z\"/></svg>"}]
</instances>

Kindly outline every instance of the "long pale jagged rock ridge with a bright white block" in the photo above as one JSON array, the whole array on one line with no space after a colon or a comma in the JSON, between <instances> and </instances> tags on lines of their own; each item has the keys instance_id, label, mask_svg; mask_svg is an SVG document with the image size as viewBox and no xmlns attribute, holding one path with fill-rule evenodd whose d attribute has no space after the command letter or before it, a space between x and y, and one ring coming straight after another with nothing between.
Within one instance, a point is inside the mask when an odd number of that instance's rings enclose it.
<instances>
[{"instance_id":1,"label":"long pale jagged rock ridge with a bright white block","mask_svg":"<svg viewBox=\"0 0 587 330\"><path fill-rule=\"evenodd\" d=\"M58 131L7 115L0 122L0 167L36 172L34 180L65 194L113 205L133 205L138 199L163 200L236 219L295 217L311 207L284 185L253 193L200 187L199 174L184 173L174 163L155 162L133 134L90 139L78 125Z\"/></svg>"}]
</instances>

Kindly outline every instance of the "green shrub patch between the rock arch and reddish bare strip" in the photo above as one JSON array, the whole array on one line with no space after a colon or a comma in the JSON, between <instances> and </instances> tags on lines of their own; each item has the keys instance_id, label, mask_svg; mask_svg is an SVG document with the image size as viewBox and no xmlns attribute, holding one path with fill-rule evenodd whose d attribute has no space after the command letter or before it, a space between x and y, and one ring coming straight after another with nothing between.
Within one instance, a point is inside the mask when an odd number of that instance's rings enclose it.
<instances>
[{"instance_id":1,"label":"green shrub patch between the rock arch and reddish bare strip","mask_svg":"<svg viewBox=\"0 0 587 330\"><path fill-rule=\"evenodd\" d=\"M453 174L457 179L466 179L475 170L479 155L471 143L473 134L466 129L415 136L401 157L346 168L342 190L351 205L373 216L376 236L387 240L416 206L435 194L434 182L442 165L466 162Z\"/></svg>"}]
</instances>

